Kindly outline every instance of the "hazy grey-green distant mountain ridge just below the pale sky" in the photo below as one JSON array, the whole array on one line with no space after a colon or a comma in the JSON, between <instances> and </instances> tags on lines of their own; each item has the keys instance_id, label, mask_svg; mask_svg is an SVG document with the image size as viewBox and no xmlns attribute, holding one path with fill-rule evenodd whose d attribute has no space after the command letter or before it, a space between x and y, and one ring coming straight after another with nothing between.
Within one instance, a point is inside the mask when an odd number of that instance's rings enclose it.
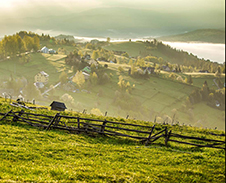
<instances>
[{"instance_id":1,"label":"hazy grey-green distant mountain ridge just below the pale sky","mask_svg":"<svg viewBox=\"0 0 226 183\"><path fill-rule=\"evenodd\" d=\"M0 35L41 29L76 36L136 38L180 34L206 27L224 27L224 15L205 11L193 15L189 12L181 14L132 8L95 8L61 16L4 16L0 24Z\"/></svg>"}]
</instances>

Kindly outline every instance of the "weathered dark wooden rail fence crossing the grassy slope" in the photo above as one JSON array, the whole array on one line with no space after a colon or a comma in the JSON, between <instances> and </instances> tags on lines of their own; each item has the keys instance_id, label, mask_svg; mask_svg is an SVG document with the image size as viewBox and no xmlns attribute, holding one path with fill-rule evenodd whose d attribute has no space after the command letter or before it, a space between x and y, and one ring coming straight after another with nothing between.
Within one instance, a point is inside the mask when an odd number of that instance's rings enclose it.
<instances>
[{"instance_id":1,"label":"weathered dark wooden rail fence crossing the grassy slope","mask_svg":"<svg viewBox=\"0 0 226 183\"><path fill-rule=\"evenodd\" d=\"M163 130L157 131L155 125L144 126L126 122L113 122L108 120L65 116L60 113L57 113L55 116L49 116L24 112L23 110L17 112L10 110L7 113L0 113L0 116L3 116L0 118L0 121L5 119L6 121L22 122L46 130L60 129L71 133L85 132L110 136L122 136L137 139L145 145L150 145L156 140L164 138L166 146L168 145L168 142L174 142L200 148L209 147L225 150L225 140L222 141L176 134L167 127ZM225 136L225 134L221 135ZM181 139L183 141L181 141Z\"/></svg>"}]
</instances>

